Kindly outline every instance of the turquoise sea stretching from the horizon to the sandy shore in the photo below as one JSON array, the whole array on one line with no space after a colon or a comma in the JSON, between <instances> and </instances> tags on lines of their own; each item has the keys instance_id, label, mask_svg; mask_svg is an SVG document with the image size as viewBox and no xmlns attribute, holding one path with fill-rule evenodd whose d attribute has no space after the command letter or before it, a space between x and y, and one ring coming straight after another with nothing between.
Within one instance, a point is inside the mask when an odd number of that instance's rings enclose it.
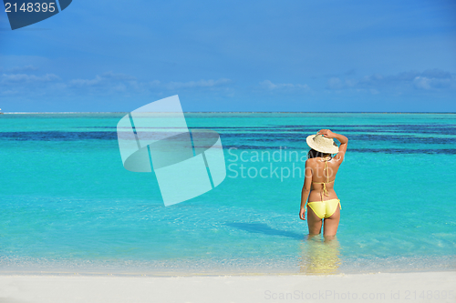
<instances>
[{"instance_id":1,"label":"turquoise sea stretching from the horizon to the sandy shore","mask_svg":"<svg viewBox=\"0 0 456 303\"><path fill-rule=\"evenodd\" d=\"M455 114L187 113L220 134L227 177L171 207L153 173L122 167L124 115L0 116L3 271L456 268ZM333 241L307 239L298 217L306 136L320 128L349 138Z\"/></svg>"}]
</instances>

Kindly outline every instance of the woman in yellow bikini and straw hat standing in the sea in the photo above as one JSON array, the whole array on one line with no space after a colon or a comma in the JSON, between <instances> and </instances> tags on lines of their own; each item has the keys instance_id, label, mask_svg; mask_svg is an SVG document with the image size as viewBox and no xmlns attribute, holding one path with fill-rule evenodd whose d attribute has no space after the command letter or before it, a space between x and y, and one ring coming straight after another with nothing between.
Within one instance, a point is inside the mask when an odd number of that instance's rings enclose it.
<instances>
[{"instance_id":1,"label":"woman in yellow bikini and straw hat standing in the sea","mask_svg":"<svg viewBox=\"0 0 456 303\"><path fill-rule=\"evenodd\" d=\"M340 146L334 142L336 138ZM306 220L306 200L310 208L307 212L307 225L310 235L321 233L324 236L336 236L340 218L340 200L334 191L337 170L347 151L347 136L322 129L316 135L307 136L310 151L306 160L304 187L301 192L301 210L299 217ZM331 157L331 154L336 154ZM310 195L309 195L310 193Z\"/></svg>"}]
</instances>

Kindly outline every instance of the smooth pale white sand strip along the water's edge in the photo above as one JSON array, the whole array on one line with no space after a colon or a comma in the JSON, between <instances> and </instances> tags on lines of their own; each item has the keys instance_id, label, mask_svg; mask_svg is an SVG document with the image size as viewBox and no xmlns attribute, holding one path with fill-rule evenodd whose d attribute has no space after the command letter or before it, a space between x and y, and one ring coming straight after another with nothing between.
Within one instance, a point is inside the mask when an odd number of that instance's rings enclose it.
<instances>
[{"instance_id":1,"label":"smooth pale white sand strip along the water's edge","mask_svg":"<svg viewBox=\"0 0 456 303\"><path fill-rule=\"evenodd\" d=\"M456 272L302 276L2 275L0 302L456 302Z\"/></svg>"}]
</instances>

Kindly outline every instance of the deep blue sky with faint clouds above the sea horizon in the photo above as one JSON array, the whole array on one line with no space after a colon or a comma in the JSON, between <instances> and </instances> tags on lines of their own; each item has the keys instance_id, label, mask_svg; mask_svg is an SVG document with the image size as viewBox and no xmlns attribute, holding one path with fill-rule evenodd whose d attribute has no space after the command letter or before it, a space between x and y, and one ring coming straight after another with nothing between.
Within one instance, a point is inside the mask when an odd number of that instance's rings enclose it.
<instances>
[{"instance_id":1,"label":"deep blue sky with faint clouds above the sea horizon","mask_svg":"<svg viewBox=\"0 0 456 303\"><path fill-rule=\"evenodd\" d=\"M456 3L88 1L12 31L5 112L456 112Z\"/></svg>"}]
</instances>

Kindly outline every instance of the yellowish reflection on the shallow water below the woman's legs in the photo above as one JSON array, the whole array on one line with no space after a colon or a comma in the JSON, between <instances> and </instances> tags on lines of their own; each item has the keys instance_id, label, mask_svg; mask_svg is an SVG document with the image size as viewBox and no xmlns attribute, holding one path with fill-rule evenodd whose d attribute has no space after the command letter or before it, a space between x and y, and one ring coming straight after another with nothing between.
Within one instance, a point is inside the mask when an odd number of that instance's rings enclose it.
<instances>
[{"instance_id":1,"label":"yellowish reflection on the shallow water below the woman's legs","mask_svg":"<svg viewBox=\"0 0 456 303\"><path fill-rule=\"evenodd\" d=\"M309 235L302 243L301 273L306 274L335 274L340 266L337 237Z\"/></svg>"}]
</instances>

